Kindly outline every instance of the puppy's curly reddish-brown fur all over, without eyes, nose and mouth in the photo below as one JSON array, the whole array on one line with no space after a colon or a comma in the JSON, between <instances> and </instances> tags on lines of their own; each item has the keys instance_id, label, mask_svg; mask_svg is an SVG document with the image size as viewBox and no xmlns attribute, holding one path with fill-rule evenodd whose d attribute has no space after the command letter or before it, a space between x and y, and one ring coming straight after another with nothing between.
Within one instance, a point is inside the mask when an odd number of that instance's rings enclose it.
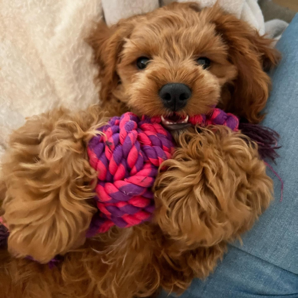
<instances>
[{"instance_id":1,"label":"puppy's curly reddish-brown fur all over, without eyes, nose and mouth","mask_svg":"<svg viewBox=\"0 0 298 298\"><path fill-rule=\"evenodd\" d=\"M178 81L193 90L181 113L205 113L217 104L258 122L270 85L263 68L278 60L271 41L246 23L195 3L174 3L111 28L100 23L89 42L100 67L102 106L56 109L11 136L0 188L14 257L0 255L1 297L180 293L194 277L212 272L227 243L248 230L272 198L257 146L241 132L221 126L174 132L179 147L156 179L153 222L85 240L96 182L85 149L103 116L167 114L157 91ZM152 61L138 71L135 61L144 55ZM210 69L193 62L198 55L210 58ZM64 260L54 269L22 258L46 263L58 253Z\"/></svg>"}]
</instances>

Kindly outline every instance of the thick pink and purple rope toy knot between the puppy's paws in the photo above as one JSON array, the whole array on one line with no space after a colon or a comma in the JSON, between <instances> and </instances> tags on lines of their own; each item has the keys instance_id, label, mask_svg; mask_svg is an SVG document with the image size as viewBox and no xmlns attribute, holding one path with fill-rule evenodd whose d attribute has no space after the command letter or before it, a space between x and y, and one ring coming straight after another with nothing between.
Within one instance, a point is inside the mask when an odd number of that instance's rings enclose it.
<instances>
[{"instance_id":1,"label":"thick pink and purple rope toy knot between the puppy's paws","mask_svg":"<svg viewBox=\"0 0 298 298\"><path fill-rule=\"evenodd\" d=\"M158 167L171 157L171 134L161 124L133 113L113 117L90 140L90 165L98 171L96 203L99 212L88 234L111 226L130 227L150 220L154 211L151 188Z\"/></svg>"}]
</instances>

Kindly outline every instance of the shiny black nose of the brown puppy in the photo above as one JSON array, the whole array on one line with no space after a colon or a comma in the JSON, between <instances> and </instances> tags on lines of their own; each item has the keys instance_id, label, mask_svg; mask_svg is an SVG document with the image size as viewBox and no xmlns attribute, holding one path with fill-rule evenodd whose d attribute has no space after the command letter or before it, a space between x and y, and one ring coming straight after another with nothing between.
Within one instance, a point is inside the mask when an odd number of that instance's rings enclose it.
<instances>
[{"instance_id":1,"label":"shiny black nose of the brown puppy","mask_svg":"<svg viewBox=\"0 0 298 298\"><path fill-rule=\"evenodd\" d=\"M169 83L163 85L159 90L159 96L164 106L172 111L183 109L191 95L190 88L181 83Z\"/></svg>"}]
</instances>

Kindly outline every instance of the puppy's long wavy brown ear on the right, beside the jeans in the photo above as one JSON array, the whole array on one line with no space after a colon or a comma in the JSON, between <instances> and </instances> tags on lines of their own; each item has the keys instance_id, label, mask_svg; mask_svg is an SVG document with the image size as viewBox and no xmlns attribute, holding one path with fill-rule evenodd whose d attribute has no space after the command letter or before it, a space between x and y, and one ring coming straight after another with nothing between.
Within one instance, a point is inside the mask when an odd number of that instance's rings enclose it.
<instances>
[{"instance_id":1,"label":"puppy's long wavy brown ear on the right, beside the jeans","mask_svg":"<svg viewBox=\"0 0 298 298\"><path fill-rule=\"evenodd\" d=\"M273 40L260 36L248 23L215 7L206 11L217 32L229 47L230 61L237 67L237 78L226 87L230 96L223 96L223 108L252 123L260 122L269 90L266 71L279 61L280 54L271 47Z\"/></svg>"}]
</instances>

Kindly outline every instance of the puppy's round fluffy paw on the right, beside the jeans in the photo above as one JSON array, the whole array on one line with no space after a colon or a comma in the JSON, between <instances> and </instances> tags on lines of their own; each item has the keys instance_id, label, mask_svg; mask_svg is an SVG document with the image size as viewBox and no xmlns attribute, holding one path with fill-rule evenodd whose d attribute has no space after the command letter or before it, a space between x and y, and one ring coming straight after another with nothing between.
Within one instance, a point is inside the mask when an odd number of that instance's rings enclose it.
<instances>
[{"instance_id":1,"label":"puppy's round fluffy paw on the right, beside the jeans","mask_svg":"<svg viewBox=\"0 0 298 298\"><path fill-rule=\"evenodd\" d=\"M248 230L272 199L272 181L257 149L241 133L187 131L155 182L155 219L188 246L231 241Z\"/></svg>"}]
</instances>

